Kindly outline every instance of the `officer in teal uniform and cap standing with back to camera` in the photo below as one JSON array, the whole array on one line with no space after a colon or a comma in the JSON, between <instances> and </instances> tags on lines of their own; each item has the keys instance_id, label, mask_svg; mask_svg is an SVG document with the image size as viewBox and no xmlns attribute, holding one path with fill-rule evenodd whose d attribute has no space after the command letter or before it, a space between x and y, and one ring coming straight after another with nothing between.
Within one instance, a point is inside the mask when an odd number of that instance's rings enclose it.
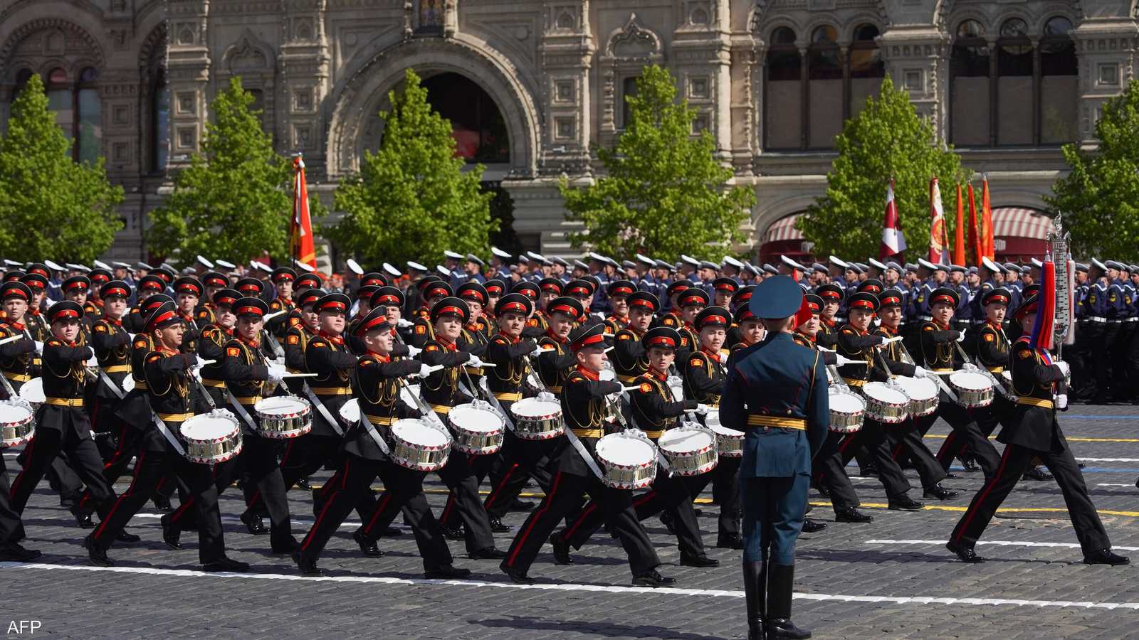
<instances>
[{"instance_id":1,"label":"officer in teal uniform and cap standing with back to camera","mask_svg":"<svg viewBox=\"0 0 1139 640\"><path fill-rule=\"evenodd\" d=\"M802 306L803 289L787 276L755 286L748 309L768 337L732 353L720 400L723 426L746 434L739 478L748 640L811 637L790 621L795 540L830 408L819 352L792 340Z\"/></svg>"}]
</instances>

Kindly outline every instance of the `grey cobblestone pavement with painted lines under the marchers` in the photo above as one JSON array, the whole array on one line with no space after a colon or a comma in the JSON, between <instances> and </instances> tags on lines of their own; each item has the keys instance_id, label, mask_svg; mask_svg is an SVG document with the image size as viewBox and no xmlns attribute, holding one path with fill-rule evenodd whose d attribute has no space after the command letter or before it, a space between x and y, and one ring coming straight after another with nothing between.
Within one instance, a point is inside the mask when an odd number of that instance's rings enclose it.
<instances>
[{"instance_id":1,"label":"grey cobblestone pavement with painted lines under the marchers","mask_svg":"<svg viewBox=\"0 0 1139 640\"><path fill-rule=\"evenodd\" d=\"M1139 408L1075 405L1062 417L1112 541L1139 561ZM936 451L948 427L927 443ZM1000 448L1000 445L998 445ZM14 451L6 451L9 467ZM857 473L851 468L851 473ZM920 483L908 471L920 498ZM313 478L327 478L321 473ZM836 524L829 502L812 494L813 516L830 526L798 544L795 621L816 638L1049 638L1133 637L1139 620L1139 567L1085 566L1059 489L1022 482L977 549L989 558L965 565L942 547L981 486L980 473L944 483L962 494L927 503L920 512L888 511L874 478L857 478L868 525ZM125 484L116 487L125 489ZM435 512L445 495L429 484ZM290 492L298 538L312 522L308 493ZM705 541L715 542L716 507L699 504ZM536 498L531 497L536 501ZM25 512L30 548L42 561L0 564L0 623L35 620L35 635L64 638L741 638L745 635L739 552L710 549L714 569L679 566L675 540L657 519L647 522L675 589L630 588L621 548L604 534L575 553L574 566L555 566L549 547L531 571L540 583L510 585L498 561L470 560L451 542L457 566L472 581L421 580L411 535L384 539L379 559L359 555L350 535L353 515L334 538L321 566L328 576L302 579L293 563L268 550L268 536L245 533L237 520L239 491L221 503L230 555L252 563L245 575L197 572L196 539L186 549L162 545L157 514L142 511L130 530L142 542L110 551L116 566L92 567L69 514L41 483ZM507 523L518 526L525 514ZM399 520L398 520L399 522ZM498 539L500 548L510 534ZM25 627L26 629L26 627ZM9 635L18 635L9 632ZM25 635L31 635L26 633Z\"/></svg>"}]
</instances>

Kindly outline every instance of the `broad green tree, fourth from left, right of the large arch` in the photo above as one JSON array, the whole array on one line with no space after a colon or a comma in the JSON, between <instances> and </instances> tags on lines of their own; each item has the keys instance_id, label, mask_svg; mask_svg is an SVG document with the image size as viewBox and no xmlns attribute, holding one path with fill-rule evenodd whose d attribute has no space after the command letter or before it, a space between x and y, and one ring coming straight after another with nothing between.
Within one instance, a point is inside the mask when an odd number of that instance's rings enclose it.
<instances>
[{"instance_id":1,"label":"broad green tree, fourth from left, right of the large arch","mask_svg":"<svg viewBox=\"0 0 1139 640\"><path fill-rule=\"evenodd\" d=\"M630 118L616 147L595 150L605 177L584 188L562 180L567 218L584 225L570 241L618 259L731 253L755 192L728 186L731 169L713 156L711 133L691 134L696 109L677 101L667 69L646 67L625 100Z\"/></svg>"}]
</instances>

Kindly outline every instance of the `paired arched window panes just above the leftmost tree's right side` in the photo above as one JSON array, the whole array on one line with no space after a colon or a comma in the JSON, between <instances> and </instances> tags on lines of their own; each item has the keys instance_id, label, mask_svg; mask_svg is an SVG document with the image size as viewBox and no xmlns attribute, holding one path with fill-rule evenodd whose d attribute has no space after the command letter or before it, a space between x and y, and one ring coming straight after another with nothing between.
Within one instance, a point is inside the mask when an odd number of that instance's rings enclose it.
<instances>
[{"instance_id":1,"label":"paired arched window panes just above the leftmost tree's right side","mask_svg":"<svg viewBox=\"0 0 1139 640\"><path fill-rule=\"evenodd\" d=\"M85 67L72 79L62 67L48 72L44 84L48 108L56 113L56 123L64 136L74 141L72 159L96 162L103 155L103 102L97 82L99 72Z\"/></svg>"}]
</instances>

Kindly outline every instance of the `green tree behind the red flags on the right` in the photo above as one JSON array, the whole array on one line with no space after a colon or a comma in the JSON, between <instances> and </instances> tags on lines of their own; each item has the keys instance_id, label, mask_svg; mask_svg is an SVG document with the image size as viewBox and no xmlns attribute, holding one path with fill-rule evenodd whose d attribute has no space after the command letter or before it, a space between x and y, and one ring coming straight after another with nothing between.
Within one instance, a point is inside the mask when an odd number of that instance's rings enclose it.
<instances>
[{"instance_id":1,"label":"green tree behind the red flags on the right","mask_svg":"<svg viewBox=\"0 0 1139 640\"><path fill-rule=\"evenodd\" d=\"M878 98L867 98L866 108L843 125L835 147L838 157L827 174L827 192L796 223L803 237L814 243L816 255L877 257L891 178L907 254L925 256L929 251L932 177L941 186L952 244L954 184L968 180L969 172L962 170L952 147L944 146L933 126L918 117L907 92L894 89L888 75Z\"/></svg>"}]
</instances>

